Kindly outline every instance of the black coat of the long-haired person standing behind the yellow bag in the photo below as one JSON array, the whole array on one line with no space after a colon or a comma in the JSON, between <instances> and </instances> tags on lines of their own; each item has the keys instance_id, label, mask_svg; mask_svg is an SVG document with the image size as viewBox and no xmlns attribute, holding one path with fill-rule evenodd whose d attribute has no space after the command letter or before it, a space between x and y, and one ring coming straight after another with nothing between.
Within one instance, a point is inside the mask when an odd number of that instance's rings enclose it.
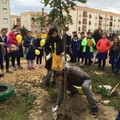
<instances>
[{"instance_id":1,"label":"black coat of the long-haired person standing behind the yellow bag","mask_svg":"<svg viewBox=\"0 0 120 120\"><path fill-rule=\"evenodd\" d=\"M56 38L49 37L46 40L45 49L44 49L46 56L49 53L51 54L54 53L55 51L54 43L56 43L56 55L60 55L63 52L63 43L61 38L59 36L57 36ZM51 67L52 67L52 58L46 60L46 65L45 65L45 68L48 70L51 70Z\"/></svg>"}]
</instances>

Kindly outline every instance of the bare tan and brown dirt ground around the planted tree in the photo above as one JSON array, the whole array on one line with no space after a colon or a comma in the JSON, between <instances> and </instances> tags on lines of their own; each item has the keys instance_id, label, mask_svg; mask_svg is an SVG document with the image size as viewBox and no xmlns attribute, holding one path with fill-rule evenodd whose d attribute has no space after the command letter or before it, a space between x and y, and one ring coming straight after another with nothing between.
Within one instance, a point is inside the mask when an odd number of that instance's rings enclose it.
<instances>
[{"instance_id":1,"label":"bare tan and brown dirt ground around the planted tree","mask_svg":"<svg viewBox=\"0 0 120 120\"><path fill-rule=\"evenodd\" d=\"M36 101L34 108L29 111L29 120L53 120L51 108L54 103L45 101L48 96L47 91L41 88L42 79L46 75L44 65L42 68L36 66L35 70L28 71L26 68L26 61L22 60L23 70L14 71L12 74L5 74L4 78L0 78L1 83L10 83L15 85L16 94L19 92L16 84L21 84L26 87L29 92L35 94ZM22 89L22 88L21 88ZM100 96L96 96L100 100ZM100 112L96 116L89 114L89 106L84 95L76 95L67 98L66 117L63 118L64 104L59 110L58 120L115 120L117 111L114 108L99 104Z\"/></svg>"}]
</instances>

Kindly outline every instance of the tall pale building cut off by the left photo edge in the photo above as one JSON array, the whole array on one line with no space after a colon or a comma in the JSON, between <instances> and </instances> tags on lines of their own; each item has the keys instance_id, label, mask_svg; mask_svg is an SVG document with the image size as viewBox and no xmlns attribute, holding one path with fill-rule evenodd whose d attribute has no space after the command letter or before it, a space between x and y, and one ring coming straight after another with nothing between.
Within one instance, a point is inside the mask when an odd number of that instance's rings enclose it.
<instances>
[{"instance_id":1,"label":"tall pale building cut off by the left photo edge","mask_svg":"<svg viewBox=\"0 0 120 120\"><path fill-rule=\"evenodd\" d=\"M2 28L11 30L10 0L0 0L0 30Z\"/></svg>"}]
</instances>

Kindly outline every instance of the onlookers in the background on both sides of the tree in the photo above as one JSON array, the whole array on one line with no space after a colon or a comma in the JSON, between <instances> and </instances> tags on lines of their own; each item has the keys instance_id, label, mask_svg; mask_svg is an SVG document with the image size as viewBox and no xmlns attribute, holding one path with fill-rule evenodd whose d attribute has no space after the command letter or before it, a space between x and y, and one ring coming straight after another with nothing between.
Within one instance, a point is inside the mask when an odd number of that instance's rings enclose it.
<instances>
[{"instance_id":1,"label":"onlookers in the background on both sides of the tree","mask_svg":"<svg viewBox=\"0 0 120 120\"><path fill-rule=\"evenodd\" d=\"M49 36L51 36L51 31L49 31ZM26 55L27 59L27 68L28 70L35 69L34 60L36 59L36 64L41 67L42 57L44 51L46 54L49 53L50 48L41 47L40 40L41 38L34 38L31 31L26 33L26 37L23 38L23 42L19 43L16 39L16 35L20 33L20 27L15 25L12 31L7 35L7 30L1 30L0 36L0 67L1 74L4 76L4 65L3 60L6 61L6 73L11 73L9 69L9 61L11 60L12 70L23 69L20 58ZM61 37L56 38L62 40ZM49 37L46 40L46 44L50 44L50 41L54 41L52 37ZM62 40L63 41L63 40ZM58 42L57 42L58 43ZM24 51L23 51L24 46ZM59 46L59 45L58 45ZM62 46L63 47L63 46ZM62 48L61 47L61 48ZM15 49L9 51L9 49ZM40 55L35 55L35 49L40 50ZM53 50L54 51L54 50ZM60 52L59 50L57 52ZM63 51L62 51L63 52ZM120 69L120 43L117 35L114 35L111 40L109 40L107 33L104 33L101 29L95 30L92 34L87 32L85 35L84 32L81 32L78 36L77 32L74 31L72 34L69 33L69 29L66 29L66 52L70 55L72 63L79 63L80 66L91 66L91 64L98 63L98 68L104 70L106 65L106 59L109 57L109 63L111 64L112 74L115 75ZM61 53L61 52L60 52ZM109 54L108 54L109 53ZM17 66L15 65L17 61ZM48 61L46 61L46 64ZM49 63L48 63L49 64ZM47 65L50 67L50 64ZM50 73L50 71L49 71Z\"/></svg>"}]
</instances>

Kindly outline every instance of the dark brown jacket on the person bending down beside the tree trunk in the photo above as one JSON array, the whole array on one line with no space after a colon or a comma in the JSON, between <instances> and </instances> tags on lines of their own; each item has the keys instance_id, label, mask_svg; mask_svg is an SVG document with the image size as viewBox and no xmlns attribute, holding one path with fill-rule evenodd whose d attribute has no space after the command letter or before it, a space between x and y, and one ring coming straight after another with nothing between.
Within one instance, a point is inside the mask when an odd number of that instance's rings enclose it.
<instances>
[{"instance_id":1,"label":"dark brown jacket on the person bending down beside the tree trunk","mask_svg":"<svg viewBox=\"0 0 120 120\"><path fill-rule=\"evenodd\" d=\"M71 66L67 69L67 90L71 92L77 92L78 90L74 87L81 86L85 80L90 80L90 76L82 69L76 66ZM60 106L64 97L64 81L60 82L60 93L57 98L57 105Z\"/></svg>"}]
</instances>

